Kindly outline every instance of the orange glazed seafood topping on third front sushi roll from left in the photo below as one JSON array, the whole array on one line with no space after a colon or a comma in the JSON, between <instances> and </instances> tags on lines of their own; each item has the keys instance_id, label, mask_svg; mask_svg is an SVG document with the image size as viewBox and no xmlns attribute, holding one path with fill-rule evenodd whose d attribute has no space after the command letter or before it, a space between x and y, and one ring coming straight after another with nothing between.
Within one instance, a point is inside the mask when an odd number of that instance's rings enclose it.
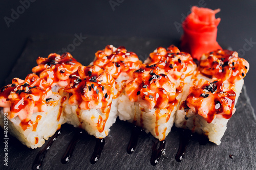
<instances>
[{"instance_id":1,"label":"orange glazed seafood topping on third front sushi roll from left","mask_svg":"<svg viewBox=\"0 0 256 170\"><path fill-rule=\"evenodd\" d=\"M133 80L126 82L125 91L130 101L153 109L164 109L176 100L176 88L164 69L158 65L142 64L133 73Z\"/></svg>"}]
</instances>

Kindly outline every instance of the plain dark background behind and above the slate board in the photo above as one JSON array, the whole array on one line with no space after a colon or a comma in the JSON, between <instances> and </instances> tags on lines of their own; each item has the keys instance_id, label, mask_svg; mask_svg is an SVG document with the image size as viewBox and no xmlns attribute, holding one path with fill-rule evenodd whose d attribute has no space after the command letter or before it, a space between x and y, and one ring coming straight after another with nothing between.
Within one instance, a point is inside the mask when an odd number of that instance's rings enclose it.
<instances>
[{"instance_id":1,"label":"plain dark background behind and above the slate board","mask_svg":"<svg viewBox=\"0 0 256 170\"><path fill-rule=\"evenodd\" d=\"M256 2L253 0L37 0L30 2L27 9L20 7L22 6L21 2L28 1L2 1L1 3L1 86L6 85L5 79L23 52L27 38L31 35L39 33L46 33L48 35L59 33L74 35L82 33L97 36L169 38L179 40L182 29L177 29L174 23L181 23L184 19L183 16L187 15L190 7L197 5L211 9L221 9L221 12L217 14L217 17L221 17L217 40L221 45L230 45L234 51L239 51L240 56L250 63L250 70L245 78L245 85L252 106L256 108L256 97L254 96L254 84L256 83L254 74L256 68L253 67L256 60L254 57L256 53ZM111 2L116 4L111 5ZM26 5L28 6L28 4ZM25 10L23 11L23 9ZM14 16L16 18L13 18L13 11L19 12L19 16ZM9 23L9 27L5 21L6 17L13 19ZM255 44L250 44L251 46L249 46L246 44L246 39L249 41L251 39ZM98 50L103 47L99 46ZM129 50L133 51L133 49ZM35 59L38 56L40 54L35 56Z\"/></svg>"}]
</instances>

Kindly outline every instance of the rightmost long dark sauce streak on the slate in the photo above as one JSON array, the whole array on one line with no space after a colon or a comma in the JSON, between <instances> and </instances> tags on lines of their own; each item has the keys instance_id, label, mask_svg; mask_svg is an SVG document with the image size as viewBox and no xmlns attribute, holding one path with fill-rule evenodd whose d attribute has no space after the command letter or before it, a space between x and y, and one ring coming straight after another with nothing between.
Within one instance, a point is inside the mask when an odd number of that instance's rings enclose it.
<instances>
[{"instance_id":1,"label":"rightmost long dark sauce streak on the slate","mask_svg":"<svg viewBox=\"0 0 256 170\"><path fill-rule=\"evenodd\" d=\"M175 159L177 162L182 161L190 138L191 138L191 132L189 130L182 130L180 132L180 146L179 146L179 150L175 156Z\"/></svg>"}]
</instances>

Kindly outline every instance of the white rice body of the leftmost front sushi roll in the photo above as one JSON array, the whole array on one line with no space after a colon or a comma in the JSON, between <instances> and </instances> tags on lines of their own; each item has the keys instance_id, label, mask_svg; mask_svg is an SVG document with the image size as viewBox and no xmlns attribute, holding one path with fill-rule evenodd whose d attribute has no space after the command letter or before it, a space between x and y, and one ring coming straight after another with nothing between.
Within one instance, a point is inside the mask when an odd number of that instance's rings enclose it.
<instances>
[{"instance_id":1,"label":"white rice body of the leftmost front sushi roll","mask_svg":"<svg viewBox=\"0 0 256 170\"><path fill-rule=\"evenodd\" d=\"M48 140L48 138L66 122L62 115L60 115L59 121L57 121L60 106L60 95L53 93L49 98L52 99L47 103L47 111L33 113L30 118L35 122L37 115L41 116L38 120L36 131L33 131L33 126L28 127L24 131L20 126L21 120L18 116L10 120L8 119L8 132L29 148L35 149L41 147L45 143L45 140ZM4 129L3 123L4 111L2 108L0 112L0 126Z\"/></svg>"}]
</instances>

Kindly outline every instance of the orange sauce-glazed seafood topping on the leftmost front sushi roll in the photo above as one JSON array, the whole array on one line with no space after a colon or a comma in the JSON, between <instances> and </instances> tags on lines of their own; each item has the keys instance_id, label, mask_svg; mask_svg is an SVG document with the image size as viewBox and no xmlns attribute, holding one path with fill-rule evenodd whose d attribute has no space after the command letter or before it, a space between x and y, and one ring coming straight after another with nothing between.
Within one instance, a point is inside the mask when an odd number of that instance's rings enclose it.
<instances>
[{"instance_id":1,"label":"orange sauce-glazed seafood topping on the leftmost front sushi roll","mask_svg":"<svg viewBox=\"0 0 256 170\"><path fill-rule=\"evenodd\" d=\"M28 122L34 112L46 111L46 99L51 94L51 86L44 79L29 74L25 80L14 78L12 84L1 89L0 107L9 119L18 116Z\"/></svg>"}]
</instances>

